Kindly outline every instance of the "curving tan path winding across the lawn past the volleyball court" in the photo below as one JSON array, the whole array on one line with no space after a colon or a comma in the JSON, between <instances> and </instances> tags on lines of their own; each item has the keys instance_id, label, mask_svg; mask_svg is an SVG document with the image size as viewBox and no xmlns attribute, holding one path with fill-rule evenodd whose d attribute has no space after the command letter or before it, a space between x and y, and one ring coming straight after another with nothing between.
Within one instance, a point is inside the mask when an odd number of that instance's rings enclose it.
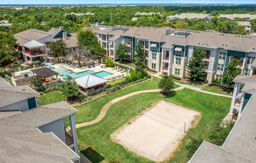
<instances>
[{"instance_id":1,"label":"curving tan path winding across the lawn past the volleyball court","mask_svg":"<svg viewBox=\"0 0 256 163\"><path fill-rule=\"evenodd\" d=\"M181 89L185 88L184 86L181 86L179 88L176 88L176 89L173 89L173 91L179 91ZM106 112L108 111L108 108L113 104L113 103L116 103L117 101L120 101L120 100L123 100L125 98L128 98L130 96L133 96L135 94L139 94L139 93L146 93L146 92L160 92L161 89L152 89L152 90L144 90L144 91L137 91L137 92L132 92L130 94L126 94L124 96L121 96L121 97L118 97L118 98L115 98L111 101L109 101L106 105L104 105L104 107L101 109L101 113L99 114L99 116L97 116L97 118L95 118L94 120L92 121L88 121L88 122L84 122L84 123L79 123L79 124L76 124L76 128L79 128L79 127L83 127L83 126L88 126L88 125L91 125L93 123L97 123L99 121L102 120L102 118L106 115Z\"/></svg>"}]
</instances>

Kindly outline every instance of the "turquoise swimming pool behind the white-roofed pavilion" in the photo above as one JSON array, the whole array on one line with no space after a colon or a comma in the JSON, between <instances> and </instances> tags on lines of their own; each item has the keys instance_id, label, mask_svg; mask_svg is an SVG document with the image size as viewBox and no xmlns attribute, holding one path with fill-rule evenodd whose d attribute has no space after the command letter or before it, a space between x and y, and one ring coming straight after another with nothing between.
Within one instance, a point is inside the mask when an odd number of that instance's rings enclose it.
<instances>
[{"instance_id":1,"label":"turquoise swimming pool behind the white-roofed pavilion","mask_svg":"<svg viewBox=\"0 0 256 163\"><path fill-rule=\"evenodd\" d=\"M72 78L75 78L75 77L78 77L78 76L82 76L82 75L88 75L88 74L95 74L101 78L105 77L105 76L109 76L111 75L111 73L109 72L106 72L106 71L100 71L100 72L95 72L93 73L92 71L88 70L88 71L83 71L83 72L79 72L79 73L75 73L75 72L67 72L65 71L65 68L64 67L58 67L58 68L55 68L53 69L53 71L56 71L56 72L59 72L61 77L63 78L66 78L67 75L71 76Z\"/></svg>"}]
</instances>

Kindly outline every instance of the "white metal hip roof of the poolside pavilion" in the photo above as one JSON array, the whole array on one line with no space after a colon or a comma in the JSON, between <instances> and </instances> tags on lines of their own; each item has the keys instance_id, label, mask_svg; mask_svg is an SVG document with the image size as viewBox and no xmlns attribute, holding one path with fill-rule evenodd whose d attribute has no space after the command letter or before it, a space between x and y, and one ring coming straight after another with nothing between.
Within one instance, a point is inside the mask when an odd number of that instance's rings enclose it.
<instances>
[{"instance_id":1,"label":"white metal hip roof of the poolside pavilion","mask_svg":"<svg viewBox=\"0 0 256 163\"><path fill-rule=\"evenodd\" d=\"M83 88L90 88L95 85L106 83L108 81L109 80L106 80L106 79L96 76L94 74L88 74L85 76L80 76L80 77L75 78L76 84Z\"/></svg>"}]
</instances>

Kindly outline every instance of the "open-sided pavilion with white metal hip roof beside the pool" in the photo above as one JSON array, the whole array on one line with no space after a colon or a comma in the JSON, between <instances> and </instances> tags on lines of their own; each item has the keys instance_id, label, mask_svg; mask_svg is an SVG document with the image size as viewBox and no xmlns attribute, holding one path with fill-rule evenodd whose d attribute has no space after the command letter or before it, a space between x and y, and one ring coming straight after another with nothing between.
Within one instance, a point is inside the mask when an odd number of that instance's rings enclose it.
<instances>
[{"instance_id":1,"label":"open-sided pavilion with white metal hip roof beside the pool","mask_svg":"<svg viewBox=\"0 0 256 163\"><path fill-rule=\"evenodd\" d=\"M75 84L78 85L80 90L85 92L87 95L92 94L94 91L106 89L106 82L109 82L109 80L94 74L88 74L75 78Z\"/></svg>"}]
</instances>

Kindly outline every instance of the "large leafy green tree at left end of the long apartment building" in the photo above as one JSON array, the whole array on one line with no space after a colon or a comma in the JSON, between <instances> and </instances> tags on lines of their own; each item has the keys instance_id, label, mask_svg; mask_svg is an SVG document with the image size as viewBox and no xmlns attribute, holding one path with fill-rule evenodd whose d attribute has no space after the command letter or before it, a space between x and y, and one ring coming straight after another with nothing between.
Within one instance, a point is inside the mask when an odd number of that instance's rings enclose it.
<instances>
[{"instance_id":1,"label":"large leafy green tree at left end of the long apartment building","mask_svg":"<svg viewBox=\"0 0 256 163\"><path fill-rule=\"evenodd\" d=\"M77 33L77 40L80 47L86 47L93 55L101 56L106 52L98 42L97 36L90 29L80 30Z\"/></svg>"}]
</instances>

